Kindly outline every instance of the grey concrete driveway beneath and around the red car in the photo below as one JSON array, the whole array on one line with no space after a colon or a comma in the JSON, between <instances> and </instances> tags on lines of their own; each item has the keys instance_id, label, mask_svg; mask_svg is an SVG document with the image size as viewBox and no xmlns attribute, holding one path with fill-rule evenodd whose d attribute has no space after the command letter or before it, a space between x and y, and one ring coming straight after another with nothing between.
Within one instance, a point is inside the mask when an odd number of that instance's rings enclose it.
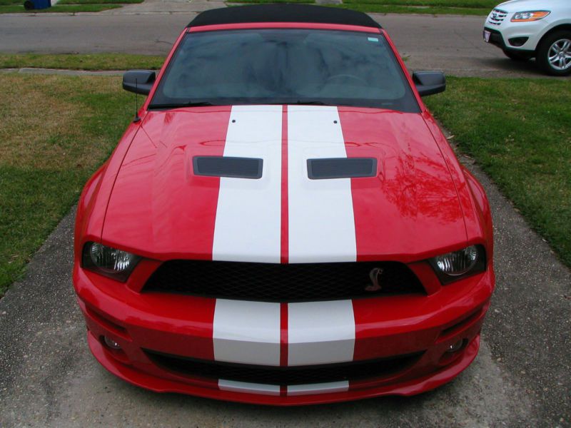
<instances>
[{"instance_id":1,"label":"grey concrete driveway beneath and around the red car","mask_svg":"<svg viewBox=\"0 0 571 428\"><path fill-rule=\"evenodd\" d=\"M497 289L473 365L417 397L296 409L156 394L86 345L66 216L0 300L0 427L571 427L571 272L469 159L493 208Z\"/></svg>"}]
</instances>

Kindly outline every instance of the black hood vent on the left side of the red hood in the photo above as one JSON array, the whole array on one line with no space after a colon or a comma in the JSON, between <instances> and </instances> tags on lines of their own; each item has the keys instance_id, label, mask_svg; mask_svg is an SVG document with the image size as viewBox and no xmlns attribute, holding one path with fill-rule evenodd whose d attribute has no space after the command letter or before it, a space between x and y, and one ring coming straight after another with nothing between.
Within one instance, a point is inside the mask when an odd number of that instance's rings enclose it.
<instances>
[{"instance_id":1,"label":"black hood vent on the left side of the red hood","mask_svg":"<svg viewBox=\"0 0 571 428\"><path fill-rule=\"evenodd\" d=\"M194 175L211 177L253 178L262 177L263 159L232 158L230 156L195 156Z\"/></svg>"}]
</instances>

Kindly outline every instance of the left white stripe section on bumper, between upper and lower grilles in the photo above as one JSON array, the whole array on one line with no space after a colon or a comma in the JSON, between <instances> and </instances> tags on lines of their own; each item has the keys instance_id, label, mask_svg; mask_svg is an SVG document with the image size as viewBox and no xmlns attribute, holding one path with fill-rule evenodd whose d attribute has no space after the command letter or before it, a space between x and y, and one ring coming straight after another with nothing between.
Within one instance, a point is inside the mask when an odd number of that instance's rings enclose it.
<instances>
[{"instance_id":1,"label":"left white stripe section on bumper, between upper and lower grilles","mask_svg":"<svg viewBox=\"0 0 571 428\"><path fill-rule=\"evenodd\" d=\"M280 365L280 304L216 300L214 359Z\"/></svg>"}]
</instances>

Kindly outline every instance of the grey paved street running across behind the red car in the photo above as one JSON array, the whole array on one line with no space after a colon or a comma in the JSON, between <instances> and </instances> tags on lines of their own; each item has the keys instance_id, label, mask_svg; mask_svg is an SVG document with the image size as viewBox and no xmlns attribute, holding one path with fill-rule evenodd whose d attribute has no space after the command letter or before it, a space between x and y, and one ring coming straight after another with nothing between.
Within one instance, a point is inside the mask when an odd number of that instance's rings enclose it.
<instances>
[{"instance_id":1,"label":"grey paved street running across behind the red car","mask_svg":"<svg viewBox=\"0 0 571 428\"><path fill-rule=\"evenodd\" d=\"M220 5L220 1L203 1L188 10ZM159 6L141 11L142 6L131 5L120 12L76 16L0 15L0 52L166 54L194 13L183 13L179 6L178 12L159 14ZM500 49L485 44L481 16L372 16L388 29L400 53L408 57L411 70L440 69L455 76L542 77L533 61L515 63Z\"/></svg>"}]
</instances>

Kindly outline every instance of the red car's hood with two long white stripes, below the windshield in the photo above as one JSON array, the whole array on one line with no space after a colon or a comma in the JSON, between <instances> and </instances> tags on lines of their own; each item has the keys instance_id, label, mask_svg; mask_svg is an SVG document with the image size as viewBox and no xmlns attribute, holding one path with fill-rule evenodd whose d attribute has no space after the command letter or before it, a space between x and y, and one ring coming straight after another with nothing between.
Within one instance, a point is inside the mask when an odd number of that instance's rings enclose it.
<instances>
[{"instance_id":1,"label":"red car's hood with two long white stripes, below the windshield","mask_svg":"<svg viewBox=\"0 0 571 428\"><path fill-rule=\"evenodd\" d=\"M196 175L196 156L263 159L259 179ZM310 180L310 158L375 158ZM103 242L166 260L415 260L465 243L455 183L423 117L372 108L150 111L118 172Z\"/></svg>"}]
</instances>

